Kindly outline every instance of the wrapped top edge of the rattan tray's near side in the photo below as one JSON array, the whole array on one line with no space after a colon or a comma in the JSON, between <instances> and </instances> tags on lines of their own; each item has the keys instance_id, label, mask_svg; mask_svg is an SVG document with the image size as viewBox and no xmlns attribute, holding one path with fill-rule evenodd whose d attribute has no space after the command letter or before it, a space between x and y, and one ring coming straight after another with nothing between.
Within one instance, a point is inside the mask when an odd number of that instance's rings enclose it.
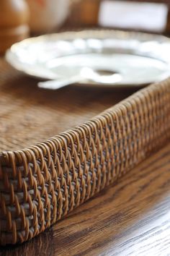
<instances>
[{"instance_id":1,"label":"wrapped top edge of the rattan tray's near side","mask_svg":"<svg viewBox=\"0 0 170 256\"><path fill-rule=\"evenodd\" d=\"M67 129L65 132L61 132L58 135L54 135L52 137L49 137L46 140L42 140L40 142L37 142L33 145L27 146L23 148L20 148L18 150L4 150L4 151L0 151L0 163L2 166L6 165L6 154L20 154L20 153L26 153L28 151L35 151L36 148L41 148L42 146L48 146L49 142L52 142L53 140L55 140L55 142L57 142L57 144L61 144L62 147L65 145L65 143L67 142L69 144L69 142L71 142L71 140L73 140L73 136L80 136L80 138L82 138L83 135L83 130L86 129L86 127L90 127L91 129L94 129L94 124L97 127L97 122L96 121L102 121L102 119L106 119L107 116L109 114L116 114L116 111L123 111L123 108L125 108L125 106L128 103L132 103L132 101L138 101L138 98L141 98L142 96L144 97L144 93L148 92L148 93L152 93L153 90L156 90L156 88L158 88L161 85L166 84L167 82L170 82L170 78L164 80L161 82L156 82L153 83L151 85L148 85L146 88L142 88L138 91L136 91L135 93L133 93L132 95L129 95L128 98L123 99L122 101L116 103L114 106L111 106L110 108L105 109L104 111L102 111L100 114L97 114L97 116L92 117L91 119L89 119L88 121L85 121L84 123L80 124L79 126L73 127L72 129ZM158 86L157 86L158 85Z\"/></svg>"}]
</instances>

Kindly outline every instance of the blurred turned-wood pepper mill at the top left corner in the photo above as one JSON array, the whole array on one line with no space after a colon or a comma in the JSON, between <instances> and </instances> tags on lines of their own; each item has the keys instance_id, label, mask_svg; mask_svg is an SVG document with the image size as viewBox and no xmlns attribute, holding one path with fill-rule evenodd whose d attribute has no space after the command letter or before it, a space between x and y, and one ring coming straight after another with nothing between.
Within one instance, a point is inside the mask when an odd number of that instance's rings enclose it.
<instances>
[{"instance_id":1,"label":"blurred turned-wood pepper mill at the top left corner","mask_svg":"<svg viewBox=\"0 0 170 256\"><path fill-rule=\"evenodd\" d=\"M0 1L0 54L29 35L29 9L24 0Z\"/></svg>"}]
</instances>

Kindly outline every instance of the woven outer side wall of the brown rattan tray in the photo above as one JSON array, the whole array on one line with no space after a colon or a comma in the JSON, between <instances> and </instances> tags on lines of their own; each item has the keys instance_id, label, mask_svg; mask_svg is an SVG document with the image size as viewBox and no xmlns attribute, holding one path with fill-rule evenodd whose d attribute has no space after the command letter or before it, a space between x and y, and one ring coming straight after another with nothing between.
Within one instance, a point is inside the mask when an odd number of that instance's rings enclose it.
<instances>
[{"instance_id":1,"label":"woven outer side wall of the brown rattan tray","mask_svg":"<svg viewBox=\"0 0 170 256\"><path fill-rule=\"evenodd\" d=\"M24 242L170 139L170 80L86 123L0 157L0 244Z\"/></svg>"}]
</instances>

